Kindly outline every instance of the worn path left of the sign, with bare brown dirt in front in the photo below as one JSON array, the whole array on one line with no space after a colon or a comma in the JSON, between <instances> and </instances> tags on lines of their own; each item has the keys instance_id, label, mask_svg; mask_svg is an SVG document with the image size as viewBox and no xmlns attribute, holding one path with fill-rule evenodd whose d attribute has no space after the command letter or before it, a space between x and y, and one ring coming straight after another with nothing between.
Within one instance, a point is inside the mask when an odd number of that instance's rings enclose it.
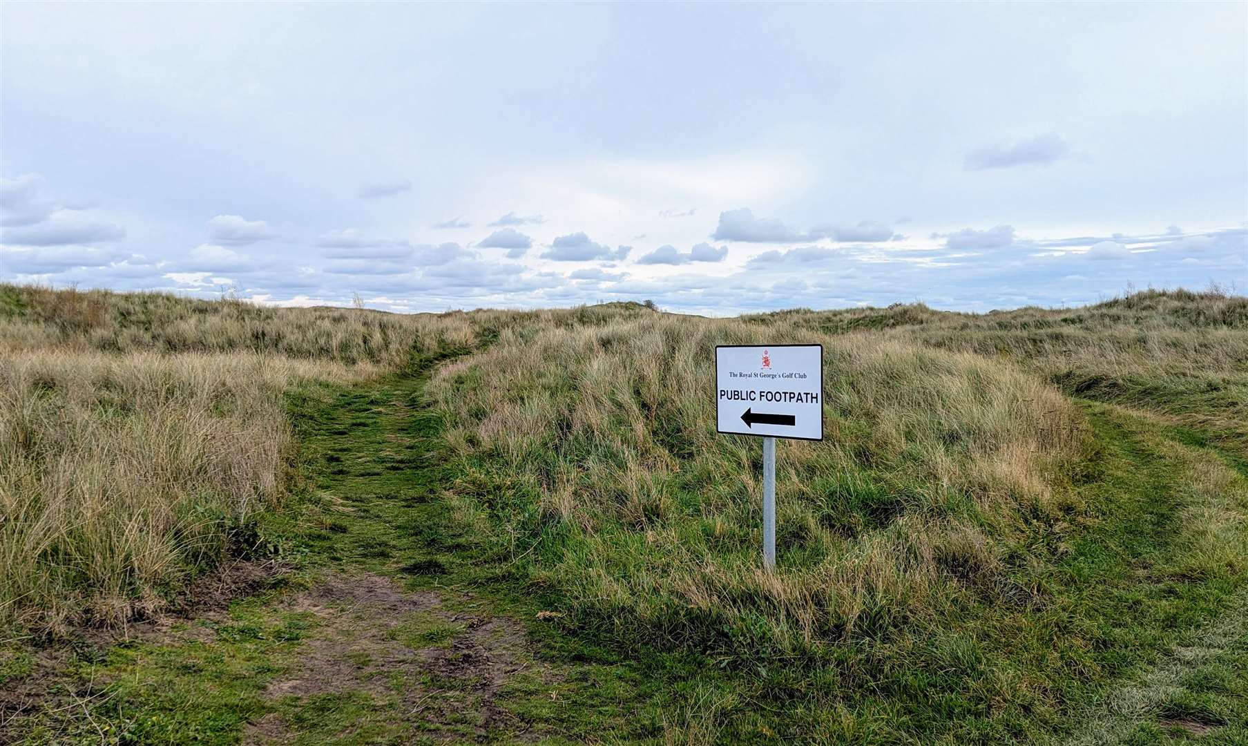
<instances>
[{"instance_id":1,"label":"worn path left of the sign, with bare brown dirt in front","mask_svg":"<svg viewBox=\"0 0 1248 746\"><path fill-rule=\"evenodd\" d=\"M437 583L462 538L437 494L443 474L423 380L342 394L297 420L303 475L318 495L301 520L316 555L329 561L311 588L273 601L280 614L307 619L310 630L292 665L266 685L265 697L281 711L250 722L246 742L298 740L310 732L301 724L326 701L366 706L387 739L549 735L504 706L513 690L559 680L535 657L524 625ZM404 584L411 576L423 583ZM336 735L358 727L343 726Z\"/></svg>"}]
</instances>

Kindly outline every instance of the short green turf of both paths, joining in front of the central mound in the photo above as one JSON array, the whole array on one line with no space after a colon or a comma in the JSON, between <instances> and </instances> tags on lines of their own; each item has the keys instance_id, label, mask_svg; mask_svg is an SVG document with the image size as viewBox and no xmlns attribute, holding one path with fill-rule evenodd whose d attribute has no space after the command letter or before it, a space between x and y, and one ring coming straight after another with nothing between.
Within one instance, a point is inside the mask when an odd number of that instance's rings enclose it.
<instances>
[{"instance_id":1,"label":"short green turf of both paths, joining in front of the central mound","mask_svg":"<svg viewBox=\"0 0 1248 746\"><path fill-rule=\"evenodd\" d=\"M183 622L202 634L74 646L49 679L49 706L0 732L29 744L235 744L268 716L300 744L1248 742L1248 568L1193 570L1179 520L1193 499L1192 459L1246 474L1217 432L1108 395L1081 399L1098 444L1076 484L1090 515L1017 548L1002 585L967 588L946 629L915 636L880 620L876 634L817 655L775 657L748 641L739 656L535 619L558 596L534 583L524 556L483 545L474 515L448 497L462 474L423 387L451 354L357 387L292 392L295 498L255 530L257 551L293 571L220 619ZM851 508L842 520L884 520L890 498L879 485L841 487ZM381 694L270 696L322 624L283 599L364 571L527 631L519 671L493 702L500 715L474 710L473 681L433 672L396 672ZM412 613L387 640L446 650L463 629ZM27 677L32 654L6 650L0 684ZM361 669L378 666L352 655ZM422 717L401 696L413 686L462 697L462 712Z\"/></svg>"}]
</instances>

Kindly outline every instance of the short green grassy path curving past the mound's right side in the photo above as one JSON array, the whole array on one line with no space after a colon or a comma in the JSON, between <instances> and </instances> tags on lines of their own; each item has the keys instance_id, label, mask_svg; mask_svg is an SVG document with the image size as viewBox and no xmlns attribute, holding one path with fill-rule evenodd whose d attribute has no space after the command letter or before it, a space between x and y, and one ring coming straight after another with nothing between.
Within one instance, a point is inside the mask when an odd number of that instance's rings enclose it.
<instances>
[{"instance_id":1,"label":"short green grassy path curving past the mound's right side","mask_svg":"<svg viewBox=\"0 0 1248 746\"><path fill-rule=\"evenodd\" d=\"M1042 742L1248 744L1248 589L1241 571L1197 561L1216 531L1241 530L1248 508L1242 494L1208 490L1202 479L1219 470L1248 477L1248 464L1209 433L1154 413L1082 404L1111 464L1091 488L1118 525L1102 521L1103 550L1076 553L1082 559L1070 569L1101 596L1098 624L1123 652L1109 659L1118 677ZM1117 581L1098 569L1123 559L1129 575ZM1236 566L1243 558L1224 559Z\"/></svg>"}]
</instances>

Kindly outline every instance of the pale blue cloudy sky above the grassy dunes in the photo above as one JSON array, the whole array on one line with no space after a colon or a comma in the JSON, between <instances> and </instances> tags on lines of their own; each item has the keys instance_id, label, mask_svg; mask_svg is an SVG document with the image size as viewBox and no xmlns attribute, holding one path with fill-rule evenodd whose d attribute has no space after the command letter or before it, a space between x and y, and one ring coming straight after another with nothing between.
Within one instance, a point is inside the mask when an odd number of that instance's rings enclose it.
<instances>
[{"instance_id":1,"label":"pale blue cloudy sky above the grassy dunes","mask_svg":"<svg viewBox=\"0 0 1248 746\"><path fill-rule=\"evenodd\" d=\"M1248 4L0 5L0 281L726 316L1248 292Z\"/></svg>"}]
</instances>

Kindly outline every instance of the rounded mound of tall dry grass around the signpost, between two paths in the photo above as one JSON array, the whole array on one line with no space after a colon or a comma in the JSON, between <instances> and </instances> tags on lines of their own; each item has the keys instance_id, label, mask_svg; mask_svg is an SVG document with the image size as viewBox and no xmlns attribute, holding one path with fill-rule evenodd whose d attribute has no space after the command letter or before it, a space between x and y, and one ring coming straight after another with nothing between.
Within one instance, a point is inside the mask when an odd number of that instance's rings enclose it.
<instances>
[{"instance_id":1,"label":"rounded mound of tall dry grass around the signpost, between two paths","mask_svg":"<svg viewBox=\"0 0 1248 746\"><path fill-rule=\"evenodd\" d=\"M557 317L555 317L557 318ZM1060 485L1080 418L1035 377L901 342L649 314L535 317L431 393L483 530L623 634L791 651L992 584ZM759 568L759 445L714 424L715 344L819 342L825 440L778 454L781 569ZM532 553L532 554L530 554Z\"/></svg>"}]
</instances>

